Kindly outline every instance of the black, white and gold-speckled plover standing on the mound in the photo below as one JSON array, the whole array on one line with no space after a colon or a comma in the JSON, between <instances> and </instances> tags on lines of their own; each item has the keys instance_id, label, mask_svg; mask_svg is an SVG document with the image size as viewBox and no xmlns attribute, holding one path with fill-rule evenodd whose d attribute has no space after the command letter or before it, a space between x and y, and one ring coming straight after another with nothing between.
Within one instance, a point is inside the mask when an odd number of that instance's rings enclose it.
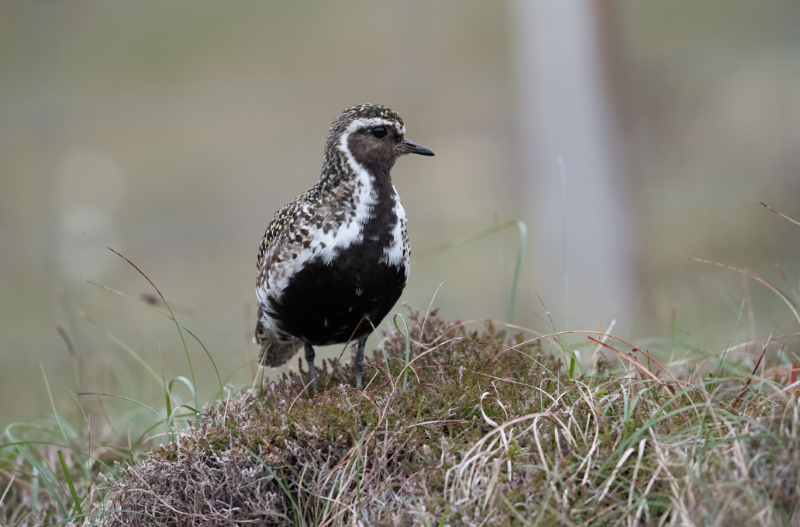
<instances>
[{"instance_id":1,"label":"black, white and gold-speckled plover standing on the mound","mask_svg":"<svg viewBox=\"0 0 800 527\"><path fill-rule=\"evenodd\" d=\"M361 387L367 337L408 282L407 218L391 170L406 154L434 153L405 134L386 106L343 111L328 129L319 181L275 212L261 240L260 364L280 366L302 347L314 393L314 346L354 342Z\"/></svg>"}]
</instances>

